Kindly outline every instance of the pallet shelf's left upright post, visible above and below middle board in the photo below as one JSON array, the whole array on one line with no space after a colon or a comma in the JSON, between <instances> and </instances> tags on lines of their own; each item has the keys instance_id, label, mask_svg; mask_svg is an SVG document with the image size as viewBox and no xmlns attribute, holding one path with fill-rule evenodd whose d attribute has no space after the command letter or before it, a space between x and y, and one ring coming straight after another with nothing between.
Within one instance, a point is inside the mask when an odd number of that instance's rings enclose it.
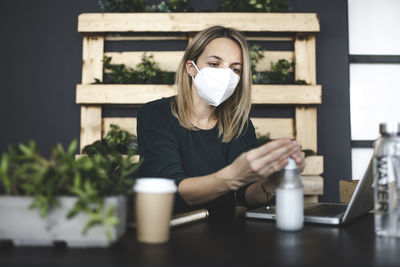
<instances>
[{"instance_id":1,"label":"pallet shelf's left upright post, visible above and below middle board","mask_svg":"<svg viewBox=\"0 0 400 267\"><path fill-rule=\"evenodd\" d=\"M82 83L89 84L95 78L103 79L103 36L84 36L82 47ZM81 107L80 151L101 138L101 107Z\"/></svg>"}]
</instances>

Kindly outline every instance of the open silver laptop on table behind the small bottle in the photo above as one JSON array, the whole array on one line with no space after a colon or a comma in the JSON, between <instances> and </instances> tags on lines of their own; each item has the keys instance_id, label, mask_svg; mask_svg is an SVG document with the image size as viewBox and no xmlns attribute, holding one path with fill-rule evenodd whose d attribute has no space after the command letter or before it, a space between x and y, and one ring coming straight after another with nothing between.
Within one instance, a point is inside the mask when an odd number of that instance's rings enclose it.
<instances>
[{"instance_id":1,"label":"open silver laptop on table behind the small bottle","mask_svg":"<svg viewBox=\"0 0 400 267\"><path fill-rule=\"evenodd\" d=\"M372 210L374 207L372 162L371 159L364 177L358 182L348 205L305 203L304 221L331 225L346 224ZM246 218L275 220L275 207L246 211Z\"/></svg>"}]
</instances>

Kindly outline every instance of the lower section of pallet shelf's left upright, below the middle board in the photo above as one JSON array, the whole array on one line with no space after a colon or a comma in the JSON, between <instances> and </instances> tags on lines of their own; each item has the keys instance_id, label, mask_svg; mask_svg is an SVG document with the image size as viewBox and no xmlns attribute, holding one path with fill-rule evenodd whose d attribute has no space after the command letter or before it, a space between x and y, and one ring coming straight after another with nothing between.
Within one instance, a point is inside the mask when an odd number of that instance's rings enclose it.
<instances>
[{"instance_id":1,"label":"lower section of pallet shelf's left upright, below the middle board","mask_svg":"<svg viewBox=\"0 0 400 267\"><path fill-rule=\"evenodd\" d=\"M81 107L81 139L80 151L101 139L101 107Z\"/></svg>"}]
</instances>

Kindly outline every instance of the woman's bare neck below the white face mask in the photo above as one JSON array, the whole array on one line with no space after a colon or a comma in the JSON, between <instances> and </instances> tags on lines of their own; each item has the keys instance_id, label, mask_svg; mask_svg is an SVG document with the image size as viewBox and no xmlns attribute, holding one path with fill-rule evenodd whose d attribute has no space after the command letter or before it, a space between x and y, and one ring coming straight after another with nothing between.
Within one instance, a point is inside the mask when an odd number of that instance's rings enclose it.
<instances>
[{"instance_id":1,"label":"woman's bare neck below the white face mask","mask_svg":"<svg viewBox=\"0 0 400 267\"><path fill-rule=\"evenodd\" d=\"M197 88L192 84L193 114L190 122L199 129L212 129L217 123L215 107L205 102L198 94Z\"/></svg>"}]
</instances>

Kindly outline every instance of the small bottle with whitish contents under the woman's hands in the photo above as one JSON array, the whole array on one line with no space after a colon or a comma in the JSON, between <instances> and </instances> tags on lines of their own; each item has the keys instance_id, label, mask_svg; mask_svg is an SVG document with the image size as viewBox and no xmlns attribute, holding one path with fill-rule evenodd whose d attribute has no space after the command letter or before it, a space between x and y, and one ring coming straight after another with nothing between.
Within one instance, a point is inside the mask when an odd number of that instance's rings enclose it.
<instances>
[{"instance_id":1,"label":"small bottle with whitish contents under the woman's hands","mask_svg":"<svg viewBox=\"0 0 400 267\"><path fill-rule=\"evenodd\" d=\"M300 230L304 224L304 190L293 159L289 158L280 179L276 188L276 226L285 231Z\"/></svg>"}]
</instances>

